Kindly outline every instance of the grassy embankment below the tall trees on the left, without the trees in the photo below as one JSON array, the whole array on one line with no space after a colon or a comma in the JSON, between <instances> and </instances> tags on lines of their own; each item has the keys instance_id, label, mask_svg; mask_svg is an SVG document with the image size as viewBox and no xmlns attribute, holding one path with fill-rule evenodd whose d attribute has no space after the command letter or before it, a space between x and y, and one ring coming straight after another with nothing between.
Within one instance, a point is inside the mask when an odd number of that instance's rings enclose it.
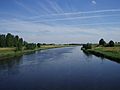
<instances>
[{"instance_id":1,"label":"grassy embankment below the tall trees on the left, without the trees","mask_svg":"<svg viewBox=\"0 0 120 90\"><path fill-rule=\"evenodd\" d=\"M69 46L71 45L42 45L40 48L36 48L34 50L22 50L17 52L15 52L15 48L0 48L0 60L19 57L22 56L23 54L32 53L38 50L69 47Z\"/></svg>"}]
</instances>

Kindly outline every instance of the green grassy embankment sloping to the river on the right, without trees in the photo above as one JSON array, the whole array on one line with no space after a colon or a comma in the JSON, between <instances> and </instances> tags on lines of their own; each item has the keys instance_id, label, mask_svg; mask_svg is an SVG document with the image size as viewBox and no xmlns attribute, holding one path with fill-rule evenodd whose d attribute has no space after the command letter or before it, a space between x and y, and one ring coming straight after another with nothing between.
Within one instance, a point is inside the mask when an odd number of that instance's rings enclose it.
<instances>
[{"instance_id":1,"label":"green grassy embankment sloping to the river on the right, without trees","mask_svg":"<svg viewBox=\"0 0 120 90\"><path fill-rule=\"evenodd\" d=\"M85 51L99 57L108 58L120 62L120 46L103 47L92 45L92 49L87 49Z\"/></svg>"}]
</instances>

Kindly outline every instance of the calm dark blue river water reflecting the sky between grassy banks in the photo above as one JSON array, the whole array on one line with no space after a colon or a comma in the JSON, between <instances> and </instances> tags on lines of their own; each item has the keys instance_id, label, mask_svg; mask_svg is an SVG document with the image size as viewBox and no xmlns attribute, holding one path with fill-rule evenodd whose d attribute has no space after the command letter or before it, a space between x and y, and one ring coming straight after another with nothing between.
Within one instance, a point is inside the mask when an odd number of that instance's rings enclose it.
<instances>
[{"instance_id":1,"label":"calm dark blue river water reflecting the sky between grassy banks","mask_svg":"<svg viewBox=\"0 0 120 90\"><path fill-rule=\"evenodd\" d=\"M120 64L80 47L0 61L0 90L120 90Z\"/></svg>"}]
</instances>

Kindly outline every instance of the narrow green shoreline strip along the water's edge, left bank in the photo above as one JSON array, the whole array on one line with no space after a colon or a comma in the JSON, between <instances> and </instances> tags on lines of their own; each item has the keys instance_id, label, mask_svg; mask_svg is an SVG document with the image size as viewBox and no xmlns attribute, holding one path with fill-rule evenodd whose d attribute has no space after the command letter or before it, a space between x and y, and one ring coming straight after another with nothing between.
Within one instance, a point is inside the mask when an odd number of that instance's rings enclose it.
<instances>
[{"instance_id":1,"label":"narrow green shoreline strip along the water's edge, left bank","mask_svg":"<svg viewBox=\"0 0 120 90\"><path fill-rule=\"evenodd\" d=\"M41 47L41 48L36 48L34 50L23 50L23 51L10 51L8 53L0 53L0 61L1 60L7 60L7 59L13 59L13 58L17 58L17 57L21 57L22 55L26 55L26 54L31 54L33 52L36 51L40 51L40 50L47 50L47 49L54 49L54 48L64 48L64 47L73 47L73 45L63 45L63 46L51 46L51 47Z\"/></svg>"}]
</instances>

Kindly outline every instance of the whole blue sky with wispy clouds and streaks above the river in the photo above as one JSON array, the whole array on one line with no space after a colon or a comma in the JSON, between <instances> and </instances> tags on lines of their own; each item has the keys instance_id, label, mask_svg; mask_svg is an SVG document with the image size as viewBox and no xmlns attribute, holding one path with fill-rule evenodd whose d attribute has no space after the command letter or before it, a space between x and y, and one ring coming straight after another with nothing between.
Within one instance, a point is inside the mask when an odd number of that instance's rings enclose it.
<instances>
[{"instance_id":1,"label":"whole blue sky with wispy clouds and streaks above the river","mask_svg":"<svg viewBox=\"0 0 120 90\"><path fill-rule=\"evenodd\" d=\"M120 0L0 0L0 33L28 42L120 41Z\"/></svg>"}]
</instances>

